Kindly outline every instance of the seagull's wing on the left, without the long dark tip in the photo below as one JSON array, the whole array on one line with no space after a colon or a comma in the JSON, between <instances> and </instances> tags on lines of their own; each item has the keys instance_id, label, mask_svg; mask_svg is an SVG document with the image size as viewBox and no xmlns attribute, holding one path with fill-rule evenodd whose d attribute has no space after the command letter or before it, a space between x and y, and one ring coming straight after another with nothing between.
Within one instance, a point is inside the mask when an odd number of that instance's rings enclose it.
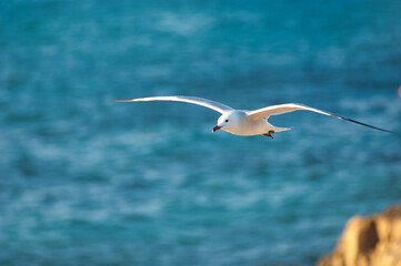
<instances>
[{"instance_id":1,"label":"seagull's wing on the left, without the long dark tip","mask_svg":"<svg viewBox=\"0 0 401 266\"><path fill-rule=\"evenodd\" d=\"M227 111L233 110L232 108L227 106L225 104L210 101L203 98L193 98L193 96L151 96L151 98L139 98L131 100L117 100L113 102L149 102L149 101L173 101L173 102L193 103L214 110L219 113L224 113Z\"/></svg>"}]
</instances>

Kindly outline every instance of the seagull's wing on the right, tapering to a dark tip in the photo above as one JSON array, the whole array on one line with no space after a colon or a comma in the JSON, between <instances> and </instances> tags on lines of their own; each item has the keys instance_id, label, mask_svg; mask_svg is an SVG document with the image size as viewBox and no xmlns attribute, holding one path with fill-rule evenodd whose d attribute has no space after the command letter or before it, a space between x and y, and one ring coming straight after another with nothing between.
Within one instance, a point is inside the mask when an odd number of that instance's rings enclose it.
<instances>
[{"instance_id":1,"label":"seagull's wing on the right, tapering to a dark tip","mask_svg":"<svg viewBox=\"0 0 401 266\"><path fill-rule=\"evenodd\" d=\"M301 104L297 104L297 103L285 103L285 104L279 104L279 105L271 105L271 106L267 106L264 109L259 109L259 110L254 110L254 111L248 111L248 115L251 119L268 119L270 115L277 115L277 114L283 114L283 113L289 113L289 112L293 112L293 111L299 111L299 110L304 110L304 111L311 111L311 112L315 112L315 113L320 113L320 114L324 114L324 115L329 115L332 117L337 117L337 119L341 119L341 120L345 120L352 123L357 123L360 125L364 125L374 130L380 130L380 131L384 131L384 132L389 132L389 133L394 133L392 131L388 131L388 130L383 130L373 125L369 125L355 120L351 120L351 119L345 119L343 116L337 115L337 114L332 114L332 113L328 113L318 109L313 109L313 108L309 108L305 105L301 105Z\"/></svg>"}]
</instances>

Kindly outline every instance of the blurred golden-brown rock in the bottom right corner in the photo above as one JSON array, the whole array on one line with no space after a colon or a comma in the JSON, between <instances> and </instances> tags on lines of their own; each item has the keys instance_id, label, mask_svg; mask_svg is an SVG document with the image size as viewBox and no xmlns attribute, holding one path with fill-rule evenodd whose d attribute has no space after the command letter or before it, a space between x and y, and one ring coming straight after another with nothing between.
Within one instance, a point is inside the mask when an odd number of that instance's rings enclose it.
<instances>
[{"instance_id":1,"label":"blurred golden-brown rock in the bottom right corner","mask_svg":"<svg viewBox=\"0 0 401 266\"><path fill-rule=\"evenodd\" d=\"M318 266L401 266L401 204L371 216L354 216L334 252Z\"/></svg>"}]
</instances>

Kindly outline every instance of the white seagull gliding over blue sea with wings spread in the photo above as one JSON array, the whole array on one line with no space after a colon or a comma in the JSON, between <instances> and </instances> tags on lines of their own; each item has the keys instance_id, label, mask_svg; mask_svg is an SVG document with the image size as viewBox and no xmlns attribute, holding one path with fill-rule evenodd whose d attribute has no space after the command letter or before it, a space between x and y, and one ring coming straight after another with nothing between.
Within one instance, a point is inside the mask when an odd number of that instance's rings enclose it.
<instances>
[{"instance_id":1,"label":"white seagull gliding over blue sea with wings spread","mask_svg":"<svg viewBox=\"0 0 401 266\"><path fill-rule=\"evenodd\" d=\"M218 130L223 130L234 135L241 135L241 136L264 135L273 139L272 136L273 133L289 131L292 127L277 127L270 124L268 122L270 115L278 115L299 110L311 111L311 112L329 115L332 117L345 120L349 122L353 122L374 130L393 133L388 130L383 130L373 125L364 124L355 120L345 119L337 114L328 113L318 109L309 108L297 103L270 105L263 109L248 111L248 110L235 110L220 102L214 102L208 99L196 98L196 96L150 96L150 98L139 98L131 100L116 100L113 102L149 102L149 101L173 101L173 102L192 103L192 104L202 105L204 108L221 113L217 125L212 129L212 133L217 132Z\"/></svg>"}]
</instances>

